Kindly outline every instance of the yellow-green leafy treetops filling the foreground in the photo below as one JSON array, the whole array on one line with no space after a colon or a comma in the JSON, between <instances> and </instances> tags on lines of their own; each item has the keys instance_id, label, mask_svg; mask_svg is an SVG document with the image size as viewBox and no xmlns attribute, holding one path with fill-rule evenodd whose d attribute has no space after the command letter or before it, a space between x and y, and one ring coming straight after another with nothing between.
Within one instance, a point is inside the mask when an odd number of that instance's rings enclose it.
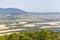
<instances>
[{"instance_id":1,"label":"yellow-green leafy treetops filling the foreground","mask_svg":"<svg viewBox=\"0 0 60 40\"><path fill-rule=\"evenodd\" d=\"M51 30L35 30L0 36L0 40L60 40L60 33Z\"/></svg>"}]
</instances>

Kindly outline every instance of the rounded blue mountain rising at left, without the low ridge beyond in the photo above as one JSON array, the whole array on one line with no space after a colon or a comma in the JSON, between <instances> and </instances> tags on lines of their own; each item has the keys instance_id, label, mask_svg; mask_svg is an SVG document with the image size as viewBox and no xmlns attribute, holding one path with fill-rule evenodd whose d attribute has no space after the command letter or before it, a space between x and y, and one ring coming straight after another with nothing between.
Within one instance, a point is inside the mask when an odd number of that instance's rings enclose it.
<instances>
[{"instance_id":1,"label":"rounded blue mountain rising at left, without the low ridge beyond","mask_svg":"<svg viewBox=\"0 0 60 40\"><path fill-rule=\"evenodd\" d=\"M17 9L17 8L0 8L0 14L1 13L10 13L10 14L25 14L27 12L23 11L23 10L20 10L20 9Z\"/></svg>"}]
</instances>

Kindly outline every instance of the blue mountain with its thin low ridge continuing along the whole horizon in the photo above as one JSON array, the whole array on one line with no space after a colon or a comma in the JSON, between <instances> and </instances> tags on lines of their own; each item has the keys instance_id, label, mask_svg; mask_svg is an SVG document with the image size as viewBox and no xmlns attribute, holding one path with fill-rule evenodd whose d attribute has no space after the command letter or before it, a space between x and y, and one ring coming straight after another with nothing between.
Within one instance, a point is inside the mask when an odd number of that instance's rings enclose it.
<instances>
[{"instance_id":1,"label":"blue mountain with its thin low ridge continuing along the whole horizon","mask_svg":"<svg viewBox=\"0 0 60 40\"><path fill-rule=\"evenodd\" d=\"M24 10L21 10L21 9L17 9L17 8L0 8L0 13L10 13L10 14L27 14L27 13L30 13L30 14L59 14L60 12L42 12L42 13L39 13L39 12L26 12Z\"/></svg>"}]
</instances>

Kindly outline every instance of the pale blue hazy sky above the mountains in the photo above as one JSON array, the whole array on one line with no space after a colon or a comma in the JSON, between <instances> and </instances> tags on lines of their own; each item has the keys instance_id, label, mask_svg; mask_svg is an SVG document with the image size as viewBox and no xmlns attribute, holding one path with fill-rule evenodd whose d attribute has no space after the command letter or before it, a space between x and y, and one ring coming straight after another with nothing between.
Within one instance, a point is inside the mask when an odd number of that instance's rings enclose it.
<instances>
[{"instance_id":1,"label":"pale blue hazy sky above the mountains","mask_svg":"<svg viewBox=\"0 0 60 40\"><path fill-rule=\"evenodd\" d=\"M60 0L0 0L0 8L19 8L32 12L60 12Z\"/></svg>"}]
</instances>

